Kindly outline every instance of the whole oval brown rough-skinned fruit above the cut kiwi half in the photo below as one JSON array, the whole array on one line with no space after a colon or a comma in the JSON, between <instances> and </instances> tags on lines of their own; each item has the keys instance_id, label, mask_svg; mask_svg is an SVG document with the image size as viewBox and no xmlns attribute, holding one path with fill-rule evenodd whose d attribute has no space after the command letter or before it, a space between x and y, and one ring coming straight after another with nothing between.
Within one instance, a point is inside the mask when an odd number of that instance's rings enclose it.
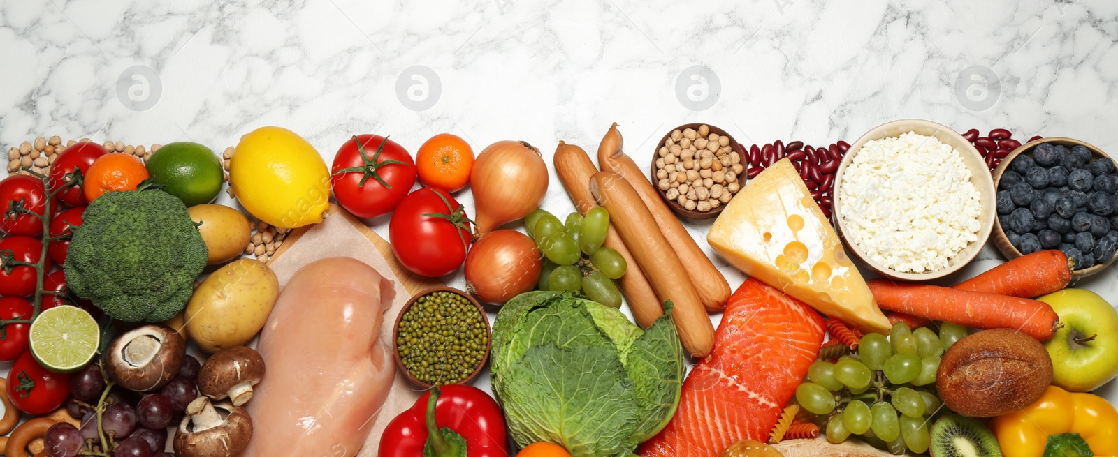
<instances>
[{"instance_id":1,"label":"whole oval brown rough-skinned fruit above the cut kiwi half","mask_svg":"<svg viewBox=\"0 0 1118 457\"><path fill-rule=\"evenodd\" d=\"M1035 339L1011 329L964 336L944 353L936 389L944 404L994 417L1032 404L1052 383L1052 359Z\"/></svg>"}]
</instances>

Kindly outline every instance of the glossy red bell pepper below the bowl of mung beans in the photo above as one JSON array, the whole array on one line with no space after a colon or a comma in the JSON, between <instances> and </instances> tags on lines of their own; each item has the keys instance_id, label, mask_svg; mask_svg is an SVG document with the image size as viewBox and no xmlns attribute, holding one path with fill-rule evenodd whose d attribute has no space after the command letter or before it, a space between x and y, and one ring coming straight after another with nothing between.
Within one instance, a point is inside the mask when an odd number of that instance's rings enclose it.
<instances>
[{"instance_id":1,"label":"glossy red bell pepper below the bowl of mung beans","mask_svg":"<svg viewBox=\"0 0 1118 457\"><path fill-rule=\"evenodd\" d=\"M439 428L442 426L442 428ZM504 415L470 385L433 388L380 438L380 457L508 457Z\"/></svg>"}]
</instances>

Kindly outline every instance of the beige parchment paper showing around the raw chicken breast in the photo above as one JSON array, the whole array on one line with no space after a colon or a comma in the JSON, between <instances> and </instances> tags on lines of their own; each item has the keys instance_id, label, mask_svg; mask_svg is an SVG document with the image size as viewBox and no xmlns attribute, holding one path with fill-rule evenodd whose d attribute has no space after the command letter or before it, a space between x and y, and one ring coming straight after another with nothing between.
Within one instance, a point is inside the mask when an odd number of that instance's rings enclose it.
<instances>
[{"instance_id":1,"label":"beige parchment paper showing around the raw chicken breast","mask_svg":"<svg viewBox=\"0 0 1118 457\"><path fill-rule=\"evenodd\" d=\"M269 266L278 276L280 286L285 287L292 275L304 265L326 257L353 257L369 264L381 276L392 282L396 297L392 299L391 306L385 306L385 323L380 329L380 342L389 344L392 337L392 323L396 322L397 314L411 297L411 294L404 288L391 267L377 250L377 246L341 215L331 215L307 230L281 256L276 257ZM372 429L369 431L364 446L357 455L361 457L376 456L385 427L401 411L410 408L421 393L397 371L392 389L380 411L369 411L370 416L376 415L372 419ZM347 457L353 455L345 453Z\"/></svg>"}]
</instances>

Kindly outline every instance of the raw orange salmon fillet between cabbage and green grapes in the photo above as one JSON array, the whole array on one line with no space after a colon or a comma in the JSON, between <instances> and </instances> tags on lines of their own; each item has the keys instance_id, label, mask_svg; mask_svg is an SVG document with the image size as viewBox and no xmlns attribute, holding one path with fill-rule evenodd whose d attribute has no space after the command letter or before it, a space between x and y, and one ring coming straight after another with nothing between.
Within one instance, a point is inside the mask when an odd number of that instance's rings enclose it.
<instances>
[{"instance_id":1,"label":"raw orange salmon fillet between cabbage and green grapes","mask_svg":"<svg viewBox=\"0 0 1118 457\"><path fill-rule=\"evenodd\" d=\"M823 344L823 317L757 279L726 304L714 350L683 381L667 427L642 457L717 457L741 439L765 442Z\"/></svg>"}]
</instances>

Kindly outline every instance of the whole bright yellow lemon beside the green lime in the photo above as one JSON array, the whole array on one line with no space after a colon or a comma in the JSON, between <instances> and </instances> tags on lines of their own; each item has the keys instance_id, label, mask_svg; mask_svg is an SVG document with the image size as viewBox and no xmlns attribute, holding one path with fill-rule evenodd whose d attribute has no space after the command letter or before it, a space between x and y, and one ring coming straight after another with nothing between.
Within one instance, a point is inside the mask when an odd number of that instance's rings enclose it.
<instances>
[{"instance_id":1,"label":"whole bright yellow lemon beside the green lime","mask_svg":"<svg viewBox=\"0 0 1118 457\"><path fill-rule=\"evenodd\" d=\"M330 170L311 143L282 127L240 137L229 161L234 193L257 219L281 228L322 221L330 207Z\"/></svg>"}]
</instances>

